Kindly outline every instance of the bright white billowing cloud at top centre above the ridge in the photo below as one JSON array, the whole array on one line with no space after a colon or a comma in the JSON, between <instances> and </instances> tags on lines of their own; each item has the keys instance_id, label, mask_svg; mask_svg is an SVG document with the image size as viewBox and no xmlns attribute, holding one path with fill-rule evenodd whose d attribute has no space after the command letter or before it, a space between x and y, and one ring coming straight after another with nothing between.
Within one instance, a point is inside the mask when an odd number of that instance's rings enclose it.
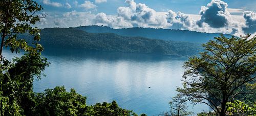
<instances>
[{"instance_id":1,"label":"bright white billowing cloud at top centre above the ridge","mask_svg":"<svg viewBox=\"0 0 256 116\"><path fill-rule=\"evenodd\" d=\"M134 27L167 27L166 12L156 12L145 4L136 4L133 0L126 0L127 7L117 9L118 16L130 22Z\"/></svg>"}]
</instances>

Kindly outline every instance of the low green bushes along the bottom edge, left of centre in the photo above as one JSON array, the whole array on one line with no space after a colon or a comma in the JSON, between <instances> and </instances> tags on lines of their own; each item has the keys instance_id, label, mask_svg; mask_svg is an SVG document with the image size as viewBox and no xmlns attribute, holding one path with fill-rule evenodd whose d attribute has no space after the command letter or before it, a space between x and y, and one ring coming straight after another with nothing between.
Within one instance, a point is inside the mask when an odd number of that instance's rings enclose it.
<instances>
[{"instance_id":1,"label":"low green bushes along the bottom edge, left of centre","mask_svg":"<svg viewBox=\"0 0 256 116\"><path fill-rule=\"evenodd\" d=\"M46 89L46 92L34 96L36 102L33 115L130 115L132 111L122 109L116 101L86 105L86 97L74 89L67 92L64 86ZM135 114L135 113L134 113Z\"/></svg>"}]
</instances>

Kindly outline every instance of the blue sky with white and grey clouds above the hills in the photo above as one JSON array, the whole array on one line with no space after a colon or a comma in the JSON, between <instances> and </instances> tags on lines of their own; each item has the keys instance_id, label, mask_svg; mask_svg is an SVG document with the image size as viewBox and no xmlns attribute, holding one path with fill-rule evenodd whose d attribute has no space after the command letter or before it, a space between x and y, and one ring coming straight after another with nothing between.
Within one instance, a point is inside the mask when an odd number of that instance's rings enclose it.
<instances>
[{"instance_id":1,"label":"blue sky with white and grey clouds above the hills","mask_svg":"<svg viewBox=\"0 0 256 116\"><path fill-rule=\"evenodd\" d=\"M253 0L38 0L39 28L103 25L256 34Z\"/></svg>"}]
</instances>

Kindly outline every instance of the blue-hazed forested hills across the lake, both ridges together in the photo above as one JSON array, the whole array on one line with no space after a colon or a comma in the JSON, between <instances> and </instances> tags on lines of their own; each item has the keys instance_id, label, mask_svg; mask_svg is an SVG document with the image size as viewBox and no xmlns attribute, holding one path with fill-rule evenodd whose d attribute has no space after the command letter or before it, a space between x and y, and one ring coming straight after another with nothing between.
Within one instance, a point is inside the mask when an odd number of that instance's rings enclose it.
<instances>
[{"instance_id":1,"label":"blue-hazed forested hills across the lake, both ridges together","mask_svg":"<svg viewBox=\"0 0 256 116\"><path fill-rule=\"evenodd\" d=\"M89 33L90 32L90 33ZM40 32L44 47L84 49L95 51L161 54L173 56L196 55L201 44L219 34L186 30L153 28L112 29L102 26L77 28L46 28ZM225 35L230 37L231 35ZM28 34L19 38L30 38Z\"/></svg>"}]
</instances>

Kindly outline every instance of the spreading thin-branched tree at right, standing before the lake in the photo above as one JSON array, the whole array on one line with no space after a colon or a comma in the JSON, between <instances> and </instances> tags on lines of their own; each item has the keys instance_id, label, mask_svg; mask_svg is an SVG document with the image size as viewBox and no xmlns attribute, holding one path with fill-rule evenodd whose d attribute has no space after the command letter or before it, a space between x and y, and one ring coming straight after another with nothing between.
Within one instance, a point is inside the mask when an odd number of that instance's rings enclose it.
<instances>
[{"instance_id":1,"label":"spreading thin-branched tree at right, standing before the lake","mask_svg":"<svg viewBox=\"0 0 256 116\"><path fill-rule=\"evenodd\" d=\"M203 44L200 57L189 57L183 87L175 99L194 104L204 103L217 115L225 115L226 103L239 94L245 83L255 82L256 37L250 35L226 38L223 35Z\"/></svg>"}]
</instances>

